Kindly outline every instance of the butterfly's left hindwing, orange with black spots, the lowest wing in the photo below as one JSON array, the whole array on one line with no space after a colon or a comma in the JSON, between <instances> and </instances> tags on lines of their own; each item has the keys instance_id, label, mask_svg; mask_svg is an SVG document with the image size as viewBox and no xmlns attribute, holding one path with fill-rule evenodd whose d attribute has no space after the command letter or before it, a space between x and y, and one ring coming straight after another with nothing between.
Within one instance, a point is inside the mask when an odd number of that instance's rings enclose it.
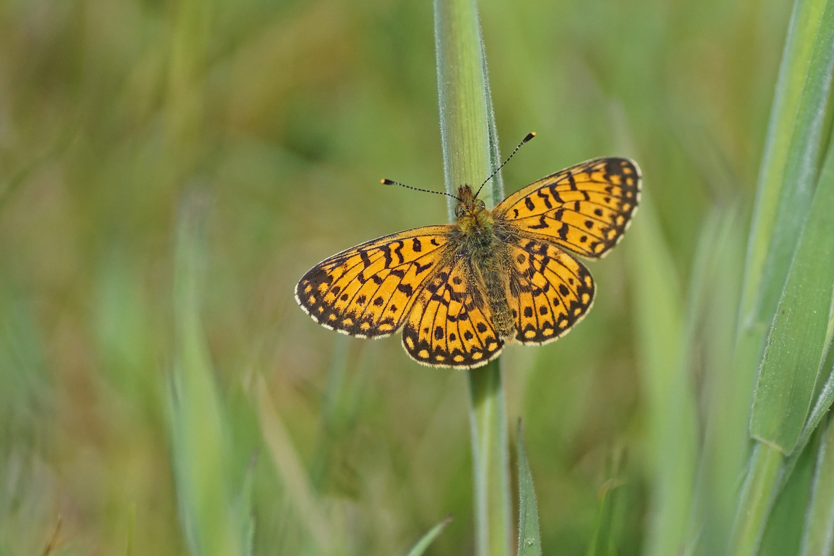
<instances>
[{"instance_id":1,"label":"butterfly's left hindwing, orange with black spots, the lowest wing","mask_svg":"<svg viewBox=\"0 0 834 556\"><path fill-rule=\"evenodd\" d=\"M403 327L403 347L417 363L475 368L498 357L504 342L465 257L452 257L426 284Z\"/></svg>"}]
</instances>

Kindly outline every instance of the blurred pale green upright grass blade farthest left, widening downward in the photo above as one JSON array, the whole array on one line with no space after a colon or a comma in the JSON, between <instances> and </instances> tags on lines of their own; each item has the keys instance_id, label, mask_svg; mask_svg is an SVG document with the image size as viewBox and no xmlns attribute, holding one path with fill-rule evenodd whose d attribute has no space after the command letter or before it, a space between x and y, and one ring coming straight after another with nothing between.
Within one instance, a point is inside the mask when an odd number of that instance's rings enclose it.
<instances>
[{"instance_id":1,"label":"blurred pale green upright grass blade farthest left, widening downward","mask_svg":"<svg viewBox=\"0 0 834 556\"><path fill-rule=\"evenodd\" d=\"M191 195L180 213L174 278L176 357L170 398L171 449L180 518L194 556L244 549L243 518L229 485L229 424L214 383L200 320L207 199Z\"/></svg>"}]
</instances>

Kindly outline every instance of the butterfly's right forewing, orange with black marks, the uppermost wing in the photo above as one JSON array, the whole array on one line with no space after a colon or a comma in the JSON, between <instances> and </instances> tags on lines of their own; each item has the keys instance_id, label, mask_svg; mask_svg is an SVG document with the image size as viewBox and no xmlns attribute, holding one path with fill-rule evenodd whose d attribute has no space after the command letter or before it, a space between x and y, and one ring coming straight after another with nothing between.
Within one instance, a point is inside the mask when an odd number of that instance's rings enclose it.
<instances>
[{"instance_id":1,"label":"butterfly's right forewing, orange with black marks, the uppermost wing","mask_svg":"<svg viewBox=\"0 0 834 556\"><path fill-rule=\"evenodd\" d=\"M531 183L495 207L522 235L604 257L640 202L641 173L627 158L594 158Z\"/></svg>"}]
</instances>

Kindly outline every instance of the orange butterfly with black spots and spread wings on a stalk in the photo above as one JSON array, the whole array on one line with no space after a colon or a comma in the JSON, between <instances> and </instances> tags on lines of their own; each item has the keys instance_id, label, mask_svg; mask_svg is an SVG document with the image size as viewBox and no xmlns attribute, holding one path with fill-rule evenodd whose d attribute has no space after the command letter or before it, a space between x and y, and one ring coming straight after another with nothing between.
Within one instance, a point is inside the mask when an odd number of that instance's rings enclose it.
<instances>
[{"instance_id":1,"label":"orange butterfly with black spots and spread wings on a stalk","mask_svg":"<svg viewBox=\"0 0 834 556\"><path fill-rule=\"evenodd\" d=\"M505 342L549 343L585 317L594 280L566 250L609 253L640 190L640 168L627 158L565 168L492 211L463 185L453 196L456 223L392 233L326 258L299 280L295 300L324 328L356 338L402 328L417 363L480 367Z\"/></svg>"}]
</instances>

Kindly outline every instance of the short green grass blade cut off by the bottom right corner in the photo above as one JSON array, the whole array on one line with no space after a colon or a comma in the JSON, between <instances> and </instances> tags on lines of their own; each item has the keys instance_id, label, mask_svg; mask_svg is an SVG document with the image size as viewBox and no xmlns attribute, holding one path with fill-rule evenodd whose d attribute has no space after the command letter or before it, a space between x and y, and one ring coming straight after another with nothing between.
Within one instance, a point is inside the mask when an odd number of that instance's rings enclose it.
<instances>
[{"instance_id":1,"label":"short green grass blade cut off by the bottom right corner","mask_svg":"<svg viewBox=\"0 0 834 556\"><path fill-rule=\"evenodd\" d=\"M811 503L800 556L830 556L834 548L834 419L829 419L816 456Z\"/></svg>"}]
</instances>

